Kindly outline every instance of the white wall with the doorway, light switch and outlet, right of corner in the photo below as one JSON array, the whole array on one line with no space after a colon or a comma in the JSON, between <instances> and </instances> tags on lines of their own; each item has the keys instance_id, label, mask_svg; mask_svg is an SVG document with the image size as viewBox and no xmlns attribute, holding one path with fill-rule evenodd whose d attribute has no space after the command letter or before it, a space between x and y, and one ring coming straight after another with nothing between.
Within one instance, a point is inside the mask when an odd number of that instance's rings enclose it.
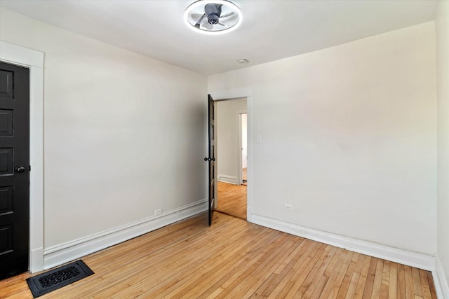
<instances>
[{"instance_id":1,"label":"white wall with the doorway, light switch and outlet, right of corner","mask_svg":"<svg viewBox=\"0 0 449 299\"><path fill-rule=\"evenodd\" d=\"M435 59L428 22L209 76L252 90L253 214L433 256Z\"/></svg>"}]
</instances>

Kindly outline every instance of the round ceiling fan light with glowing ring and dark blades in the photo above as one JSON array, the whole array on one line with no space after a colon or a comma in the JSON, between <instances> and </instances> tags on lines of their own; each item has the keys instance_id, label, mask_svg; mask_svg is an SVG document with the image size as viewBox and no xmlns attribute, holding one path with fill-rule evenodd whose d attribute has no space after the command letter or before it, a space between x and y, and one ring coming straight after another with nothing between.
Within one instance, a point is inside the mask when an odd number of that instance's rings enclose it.
<instances>
[{"instance_id":1,"label":"round ceiling fan light with glowing ring and dark blades","mask_svg":"<svg viewBox=\"0 0 449 299\"><path fill-rule=\"evenodd\" d=\"M203 34L232 32L241 24L241 17L240 8L225 0L199 0L184 13L187 26Z\"/></svg>"}]
</instances>

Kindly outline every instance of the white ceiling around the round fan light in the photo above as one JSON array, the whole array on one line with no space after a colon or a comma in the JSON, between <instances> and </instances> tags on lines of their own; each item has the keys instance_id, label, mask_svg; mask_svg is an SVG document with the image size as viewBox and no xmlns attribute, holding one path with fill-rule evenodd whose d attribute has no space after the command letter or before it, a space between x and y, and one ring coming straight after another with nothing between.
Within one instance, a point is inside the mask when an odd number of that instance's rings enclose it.
<instances>
[{"instance_id":1,"label":"white ceiling around the round fan light","mask_svg":"<svg viewBox=\"0 0 449 299\"><path fill-rule=\"evenodd\" d=\"M185 25L182 15L192 2L0 0L0 6L210 75L428 22L440 1L234 0L243 13L241 27L219 36ZM239 64L239 58L250 62Z\"/></svg>"}]
</instances>

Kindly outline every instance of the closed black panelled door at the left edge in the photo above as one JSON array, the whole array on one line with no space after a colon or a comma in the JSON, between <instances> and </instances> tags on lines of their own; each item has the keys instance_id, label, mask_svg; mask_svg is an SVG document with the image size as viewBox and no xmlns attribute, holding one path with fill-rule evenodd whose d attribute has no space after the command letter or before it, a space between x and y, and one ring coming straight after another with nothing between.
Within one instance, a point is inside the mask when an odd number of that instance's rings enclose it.
<instances>
[{"instance_id":1,"label":"closed black panelled door at the left edge","mask_svg":"<svg viewBox=\"0 0 449 299\"><path fill-rule=\"evenodd\" d=\"M29 69L0 62L0 279L28 270Z\"/></svg>"}]
</instances>

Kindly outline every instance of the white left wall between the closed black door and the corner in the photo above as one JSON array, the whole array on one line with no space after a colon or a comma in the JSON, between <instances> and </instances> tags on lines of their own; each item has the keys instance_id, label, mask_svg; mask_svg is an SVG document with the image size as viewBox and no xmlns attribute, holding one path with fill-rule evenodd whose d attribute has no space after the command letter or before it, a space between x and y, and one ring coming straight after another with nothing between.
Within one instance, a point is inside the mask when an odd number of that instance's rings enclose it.
<instances>
[{"instance_id":1,"label":"white left wall between the closed black door and the corner","mask_svg":"<svg viewBox=\"0 0 449 299\"><path fill-rule=\"evenodd\" d=\"M1 40L45 53L46 249L206 198L205 76L0 14Z\"/></svg>"}]
</instances>

